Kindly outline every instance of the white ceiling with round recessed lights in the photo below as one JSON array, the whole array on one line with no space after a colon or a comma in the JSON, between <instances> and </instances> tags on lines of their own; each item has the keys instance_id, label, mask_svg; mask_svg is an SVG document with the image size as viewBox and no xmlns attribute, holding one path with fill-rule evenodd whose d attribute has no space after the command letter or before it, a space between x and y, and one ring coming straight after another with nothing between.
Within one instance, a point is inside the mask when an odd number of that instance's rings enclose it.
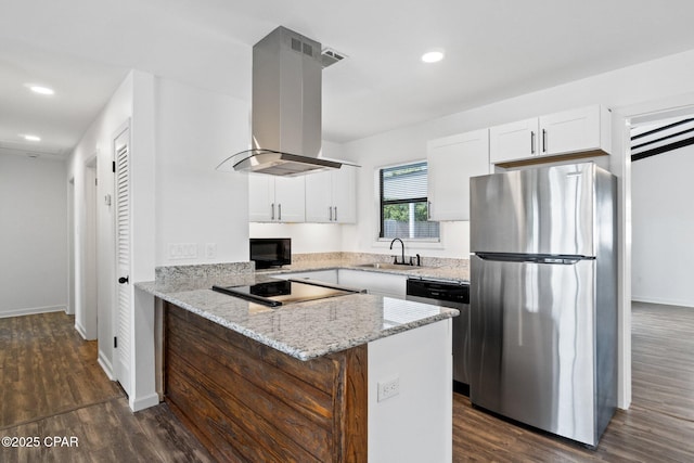
<instances>
[{"instance_id":1,"label":"white ceiling with round recessed lights","mask_svg":"<svg viewBox=\"0 0 694 463\"><path fill-rule=\"evenodd\" d=\"M345 142L694 49L693 18L691 0L0 0L0 154L69 152L131 68L249 101L279 25L348 56L323 72L323 138Z\"/></svg>"}]
</instances>

